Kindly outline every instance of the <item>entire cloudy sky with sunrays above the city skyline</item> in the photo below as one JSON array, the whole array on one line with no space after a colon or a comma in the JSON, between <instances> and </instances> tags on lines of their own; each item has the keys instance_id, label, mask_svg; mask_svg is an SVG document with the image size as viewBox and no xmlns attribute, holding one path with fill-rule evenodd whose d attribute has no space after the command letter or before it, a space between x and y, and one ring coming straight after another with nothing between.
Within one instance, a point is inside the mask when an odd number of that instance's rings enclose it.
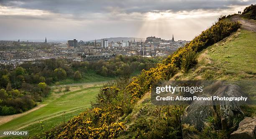
<instances>
[{"instance_id":1,"label":"entire cloudy sky with sunrays above the city skyline","mask_svg":"<svg viewBox=\"0 0 256 139\"><path fill-rule=\"evenodd\" d=\"M256 0L0 0L0 40L192 40Z\"/></svg>"}]
</instances>

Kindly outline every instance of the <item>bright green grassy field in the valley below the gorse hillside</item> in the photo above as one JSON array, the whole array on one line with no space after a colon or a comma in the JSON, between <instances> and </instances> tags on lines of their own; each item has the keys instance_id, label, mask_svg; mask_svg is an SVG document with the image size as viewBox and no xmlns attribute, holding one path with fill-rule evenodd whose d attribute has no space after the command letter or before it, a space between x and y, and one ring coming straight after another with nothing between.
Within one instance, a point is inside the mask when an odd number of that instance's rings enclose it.
<instances>
[{"instance_id":1,"label":"bright green grassy field in the valley below the gorse hillside","mask_svg":"<svg viewBox=\"0 0 256 139\"><path fill-rule=\"evenodd\" d=\"M90 102L95 99L100 87L102 86L81 88L72 92L62 92L62 94L51 92L49 97L41 103L46 106L0 125L0 131L19 129L29 131L30 135L41 134L38 121L43 123L45 131L63 123L63 116L67 122L91 106Z\"/></svg>"}]
</instances>

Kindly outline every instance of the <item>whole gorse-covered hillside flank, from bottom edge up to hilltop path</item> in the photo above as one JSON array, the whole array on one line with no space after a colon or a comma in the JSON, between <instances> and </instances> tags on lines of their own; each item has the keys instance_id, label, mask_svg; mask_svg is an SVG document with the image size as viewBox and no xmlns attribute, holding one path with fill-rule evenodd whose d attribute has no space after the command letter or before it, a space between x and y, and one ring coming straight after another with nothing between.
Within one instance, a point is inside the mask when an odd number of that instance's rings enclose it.
<instances>
[{"instance_id":1,"label":"whole gorse-covered hillside flank, from bottom edge up to hilltop path","mask_svg":"<svg viewBox=\"0 0 256 139\"><path fill-rule=\"evenodd\" d=\"M240 22L215 22L155 68L143 70L130 81L120 79L103 87L92 109L70 120L58 138L181 138L180 116L185 106L154 106L148 94L151 85L177 72L189 72L197 53L240 27Z\"/></svg>"}]
</instances>

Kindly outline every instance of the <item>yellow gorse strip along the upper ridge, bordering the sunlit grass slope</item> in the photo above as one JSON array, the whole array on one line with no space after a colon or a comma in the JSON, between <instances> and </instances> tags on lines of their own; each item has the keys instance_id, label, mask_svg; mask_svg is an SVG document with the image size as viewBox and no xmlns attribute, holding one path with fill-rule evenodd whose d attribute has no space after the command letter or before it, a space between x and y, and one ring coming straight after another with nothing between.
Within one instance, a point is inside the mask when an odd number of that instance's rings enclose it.
<instances>
[{"instance_id":1,"label":"yellow gorse strip along the upper ridge, bordering the sunlit grass slope","mask_svg":"<svg viewBox=\"0 0 256 139\"><path fill-rule=\"evenodd\" d=\"M132 102L140 98L145 92L148 92L153 82L157 82L161 79L170 79L181 67L184 67L186 72L191 65L195 64L195 56L189 57L187 55L200 52L206 47L213 45L215 42L222 40L224 37L228 37L240 27L241 23L239 22L216 22L212 27L202 31L200 35L187 43L184 47L179 48L173 55L164 60L163 63L158 64L157 67L147 71L143 70L141 74L133 78L133 82L127 86L127 91L130 92L133 97Z\"/></svg>"}]
</instances>

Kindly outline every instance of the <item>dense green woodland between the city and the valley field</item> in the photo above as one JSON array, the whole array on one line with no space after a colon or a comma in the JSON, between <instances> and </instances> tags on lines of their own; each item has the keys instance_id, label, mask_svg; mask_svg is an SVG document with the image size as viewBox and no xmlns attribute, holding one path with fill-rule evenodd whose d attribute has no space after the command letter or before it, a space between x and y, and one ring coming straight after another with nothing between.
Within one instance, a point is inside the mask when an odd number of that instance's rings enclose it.
<instances>
[{"instance_id":1,"label":"dense green woodland between the city and the valley field","mask_svg":"<svg viewBox=\"0 0 256 139\"><path fill-rule=\"evenodd\" d=\"M49 59L26 62L14 70L0 70L0 115L27 111L41 102L50 92L48 85L64 79L79 82L89 72L102 77L130 76L134 72L155 67L163 57L122 56L96 63Z\"/></svg>"}]
</instances>

